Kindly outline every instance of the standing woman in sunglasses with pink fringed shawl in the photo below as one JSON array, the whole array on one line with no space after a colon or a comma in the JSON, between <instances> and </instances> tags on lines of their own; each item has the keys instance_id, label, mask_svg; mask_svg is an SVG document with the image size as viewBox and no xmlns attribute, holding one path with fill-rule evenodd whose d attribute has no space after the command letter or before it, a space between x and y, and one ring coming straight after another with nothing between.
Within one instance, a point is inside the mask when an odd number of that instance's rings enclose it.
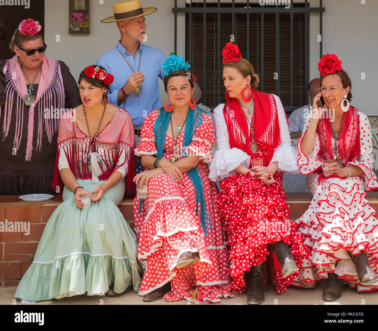
<instances>
[{"instance_id":1,"label":"standing woman in sunglasses with pink fringed shawl","mask_svg":"<svg viewBox=\"0 0 378 331\"><path fill-rule=\"evenodd\" d=\"M45 56L41 26L20 23L0 59L0 195L59 193L52 187L59 119L81 104L64 62ZM41 171L43 169L43 172Z\"/></svg>"}]
</instances>

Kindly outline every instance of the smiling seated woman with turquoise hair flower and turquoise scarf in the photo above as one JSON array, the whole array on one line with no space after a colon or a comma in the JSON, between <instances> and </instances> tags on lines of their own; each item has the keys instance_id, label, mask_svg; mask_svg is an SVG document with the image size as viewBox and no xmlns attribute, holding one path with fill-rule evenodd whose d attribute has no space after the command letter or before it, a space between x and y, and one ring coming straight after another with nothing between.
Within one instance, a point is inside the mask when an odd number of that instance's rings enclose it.
<instances>
[{"instance_id":1,"label":"smiling seated woman with turquoise hair flower and turquoise scarf","mask_svg":"<svg viewBox=\"0 0 378 331\"><path fill-rule=\"evenodd\" d=\"M147 116L135 150L147 168L135 177L139 187L147 185L146 198L134 200L138 257L146 260L139 289L144 301L193 300L195 286L196 303L233 296L217 187L206 164L212 160L214 124L194 104L189 68L175 55L164 63L171 105Z\"/></svg>"}]
</instances>

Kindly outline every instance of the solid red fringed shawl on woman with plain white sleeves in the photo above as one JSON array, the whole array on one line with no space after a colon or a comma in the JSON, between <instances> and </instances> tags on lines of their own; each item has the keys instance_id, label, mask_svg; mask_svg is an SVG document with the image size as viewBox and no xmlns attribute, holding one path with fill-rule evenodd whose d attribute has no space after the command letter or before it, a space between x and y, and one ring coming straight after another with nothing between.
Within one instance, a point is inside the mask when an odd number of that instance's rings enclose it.
<instances>
[{"instance_id":1,"label":"solid red fringed shawl on woman with plain white sleeves","mask_svg":"<svg viewBox=\"0 0 378 331\"><path fill-rule=\"evenodd\" d=\"M250 142L249 123L247 122L239 101L232 98L223 108L230 148L236 147L246 152L252 159L262 158L263 165L269 165L273 154L281 142L278 122L277 105L273 94L258 92L255 94L254 140L257 143L257 153L253 154ZM246 140L243 141L243 138Z\"/></svg>"}]
</instances>

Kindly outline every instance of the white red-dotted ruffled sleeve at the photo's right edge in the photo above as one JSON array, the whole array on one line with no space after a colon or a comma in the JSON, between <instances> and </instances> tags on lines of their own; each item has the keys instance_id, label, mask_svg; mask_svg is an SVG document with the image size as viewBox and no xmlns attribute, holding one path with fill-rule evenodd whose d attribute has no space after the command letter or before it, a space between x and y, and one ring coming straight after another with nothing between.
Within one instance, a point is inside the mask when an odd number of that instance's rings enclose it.
<instances>
[{"instance_id":1,"label":"white red-dotted ruffled sleeve at the photo's right edge","mask_svg":"<svg viewBox=\"0 0 378 331\"><path fill-rule=\"evenodd\" d=\"M360 155L358 159L348 162L348 165L356 165L364 173L361 175L364 178L365 190L372 191L378 188L377 178L374 169L373 159L373 144L372 144L372 130L370 128L369 119L362 111L358 111L359 117L359 146Z\"/></svg>"}]
</instances>

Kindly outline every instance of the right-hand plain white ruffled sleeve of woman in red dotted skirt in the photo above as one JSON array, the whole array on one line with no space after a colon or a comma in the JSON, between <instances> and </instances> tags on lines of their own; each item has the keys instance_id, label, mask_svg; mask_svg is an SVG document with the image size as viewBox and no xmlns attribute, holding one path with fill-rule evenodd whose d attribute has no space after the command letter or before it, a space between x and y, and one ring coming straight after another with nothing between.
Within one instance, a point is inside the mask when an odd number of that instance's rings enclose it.
<instances>
[{"instance_id":1,"label":"right-hand plain white ruffled sleeve of woman in red dotted skirt","mask_svg":"<svg viewBox=\"0 0 378 331\"><path fill-rule=\"evenodd\" d=\"M274 94L273 94L274 95ZM278 161L278 171L283 173L299 173L296 151L291 146L289 128L286 120L285 110L279 97L274 95L277 105L278 122L280 125L281 143L274 151L270 162Z\"/></svg>"}]
</instances>

